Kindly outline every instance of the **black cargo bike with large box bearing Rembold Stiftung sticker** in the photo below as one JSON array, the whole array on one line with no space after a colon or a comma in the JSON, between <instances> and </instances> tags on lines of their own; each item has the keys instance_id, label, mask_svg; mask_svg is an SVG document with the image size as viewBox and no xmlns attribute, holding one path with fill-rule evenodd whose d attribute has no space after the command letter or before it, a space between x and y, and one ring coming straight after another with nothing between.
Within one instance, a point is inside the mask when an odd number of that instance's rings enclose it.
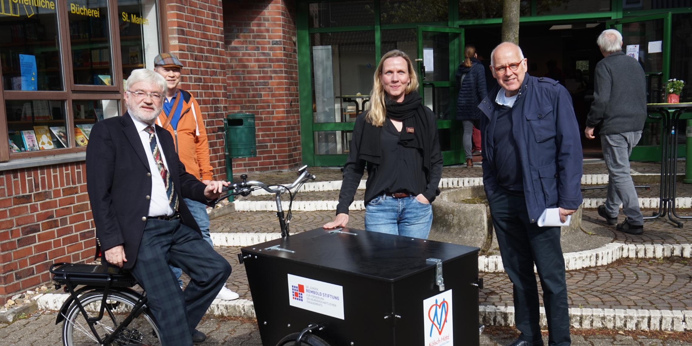
<instances>
[{"instance_id":1,"label":"black cargo bike with large box bearing Rembold Stiftung sticker","mask_svg":"<svg viewBox=\"0 0 692 346\"><path fill-rule=\"evenodd\" d=\"M243 174L227 194L275 194L282 237L238 254L262 345L479 345L479 248L352 228L291 235L291 190L315 179L307 167L298 174L289 185ZM59 263L51 273L70 293L56 320L64 345L160 345L146 293L126 271Z\"/></svg>"}]
</instances>

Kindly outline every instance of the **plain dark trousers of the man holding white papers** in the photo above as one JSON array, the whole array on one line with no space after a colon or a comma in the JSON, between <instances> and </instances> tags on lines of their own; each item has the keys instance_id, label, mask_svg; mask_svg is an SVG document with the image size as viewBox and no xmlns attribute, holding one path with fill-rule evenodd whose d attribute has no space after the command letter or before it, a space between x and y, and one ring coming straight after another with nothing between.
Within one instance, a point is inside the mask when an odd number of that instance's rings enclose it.
<instances>
[{"instance_id":1,"label":"plain dark trousers of the man holding white papers","mask_svg":"<svg viewBox=\"0 0 692 346\"><path fill-rule=\"evenodd\" d=\"M531 224L523 196L498 189L489 202L502 265L513 284L515 322L521 331L519 338L527 341L541 339L538 285L534 274L536 264L543 288L548 344L570 345L570 315L560 228Z\"/></svg>"}]
</instances>

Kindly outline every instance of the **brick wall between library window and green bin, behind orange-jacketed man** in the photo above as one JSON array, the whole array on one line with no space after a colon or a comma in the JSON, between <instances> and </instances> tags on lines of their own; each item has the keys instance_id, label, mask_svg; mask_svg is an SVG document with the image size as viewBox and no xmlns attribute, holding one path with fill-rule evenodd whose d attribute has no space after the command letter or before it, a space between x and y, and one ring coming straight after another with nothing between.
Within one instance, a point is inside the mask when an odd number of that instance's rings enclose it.
<instances>
[{"instance_id":1,"label":"brick wall between library window and green bin, behind orange-jacketed man","mask_svg":"<svg viewBox=\"0 0 692 346\"><path fill-rule=\"evenodd\" d=\"M232 2L227 2L232 7ZM197 98L209 140L215 179L226 176L226 51L221 0L168 0L169 51L185 65L180 84Z\"/></svg>"}]
</instances>

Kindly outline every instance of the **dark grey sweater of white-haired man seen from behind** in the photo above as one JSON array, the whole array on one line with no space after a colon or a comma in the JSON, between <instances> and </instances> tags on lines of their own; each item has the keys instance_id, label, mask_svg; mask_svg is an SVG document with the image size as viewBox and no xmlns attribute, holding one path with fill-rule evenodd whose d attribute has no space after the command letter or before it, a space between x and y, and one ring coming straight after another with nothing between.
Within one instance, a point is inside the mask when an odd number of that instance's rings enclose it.
<instances>
[{"instance_id":1,"label":"dark grey sweater of white-haired man seen from behind","mask_svg":"<svg viewBox=\"0 0 692 346\"><path fill-rule=\"evenodd\" d=\"M586 126L600 134L644 129L646 77L637 60L623 52L610 53L596 64L594 102Z\"/></svg>"}]
</instances>

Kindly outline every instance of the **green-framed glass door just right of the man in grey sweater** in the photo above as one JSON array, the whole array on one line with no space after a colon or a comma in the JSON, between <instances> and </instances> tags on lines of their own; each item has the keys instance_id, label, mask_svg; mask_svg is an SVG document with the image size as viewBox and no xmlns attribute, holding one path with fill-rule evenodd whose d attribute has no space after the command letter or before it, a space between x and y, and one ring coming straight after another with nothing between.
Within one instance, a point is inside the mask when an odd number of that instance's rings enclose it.
<instances>
[{"instance_id":1,"label":"green-framed glass door just right of the man in grey sweater","mask_svg":"<svg viewBox=\"0 0 692 346\"><path fill-rule=\"evenodd\" d=\"M665 102L664 84L668 80L671 59L671 12L613 19L608 28L622 33L622 49L637 59L646 73L647 103ZM630 160L661 159L662 127L660 120L647 119L639 144L632 149Z\"/></svg>"}]
</instances>

